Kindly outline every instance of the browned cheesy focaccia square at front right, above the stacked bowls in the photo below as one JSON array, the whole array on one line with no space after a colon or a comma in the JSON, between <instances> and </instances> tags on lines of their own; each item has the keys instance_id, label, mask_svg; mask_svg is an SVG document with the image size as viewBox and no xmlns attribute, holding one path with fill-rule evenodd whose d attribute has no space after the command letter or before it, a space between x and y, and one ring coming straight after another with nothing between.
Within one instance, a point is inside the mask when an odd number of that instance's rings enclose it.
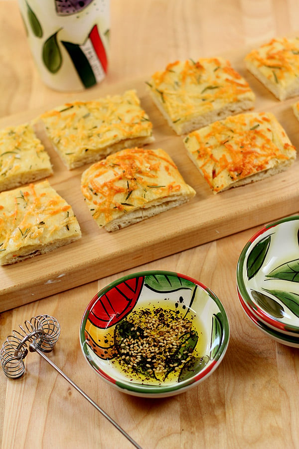
<instances>
[{"instance_id":1,"label":"browned cheesy focaccia square at front right, above the stacked bowls","mask_svg":"<svg viewBox=\"0 0 299 449\"><path fill-rule=\"evenodd\" d=\"M188 155L213 193L275 175L296 159L296 149L272 113L248 112L193 131Z\"/></svg>"}]
</instances>

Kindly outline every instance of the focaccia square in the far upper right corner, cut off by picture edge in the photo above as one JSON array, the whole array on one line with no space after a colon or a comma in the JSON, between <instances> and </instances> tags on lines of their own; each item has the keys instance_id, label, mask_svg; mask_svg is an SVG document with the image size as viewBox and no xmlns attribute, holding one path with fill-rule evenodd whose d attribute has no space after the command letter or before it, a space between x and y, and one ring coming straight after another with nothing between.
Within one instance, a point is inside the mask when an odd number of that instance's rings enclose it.
<instances>
[{"instance_id":1,"label":"focaccia square in the far upper right corner, cut off by picture edge","mask_svg":"<svg viewBox=\"0 0 299 449\"><path fill-rule=\"evenodd\" d=\"M247 69L279 100L299 95L299 39L276 38L245 57Z\"/></svg>"}]
</instances>

